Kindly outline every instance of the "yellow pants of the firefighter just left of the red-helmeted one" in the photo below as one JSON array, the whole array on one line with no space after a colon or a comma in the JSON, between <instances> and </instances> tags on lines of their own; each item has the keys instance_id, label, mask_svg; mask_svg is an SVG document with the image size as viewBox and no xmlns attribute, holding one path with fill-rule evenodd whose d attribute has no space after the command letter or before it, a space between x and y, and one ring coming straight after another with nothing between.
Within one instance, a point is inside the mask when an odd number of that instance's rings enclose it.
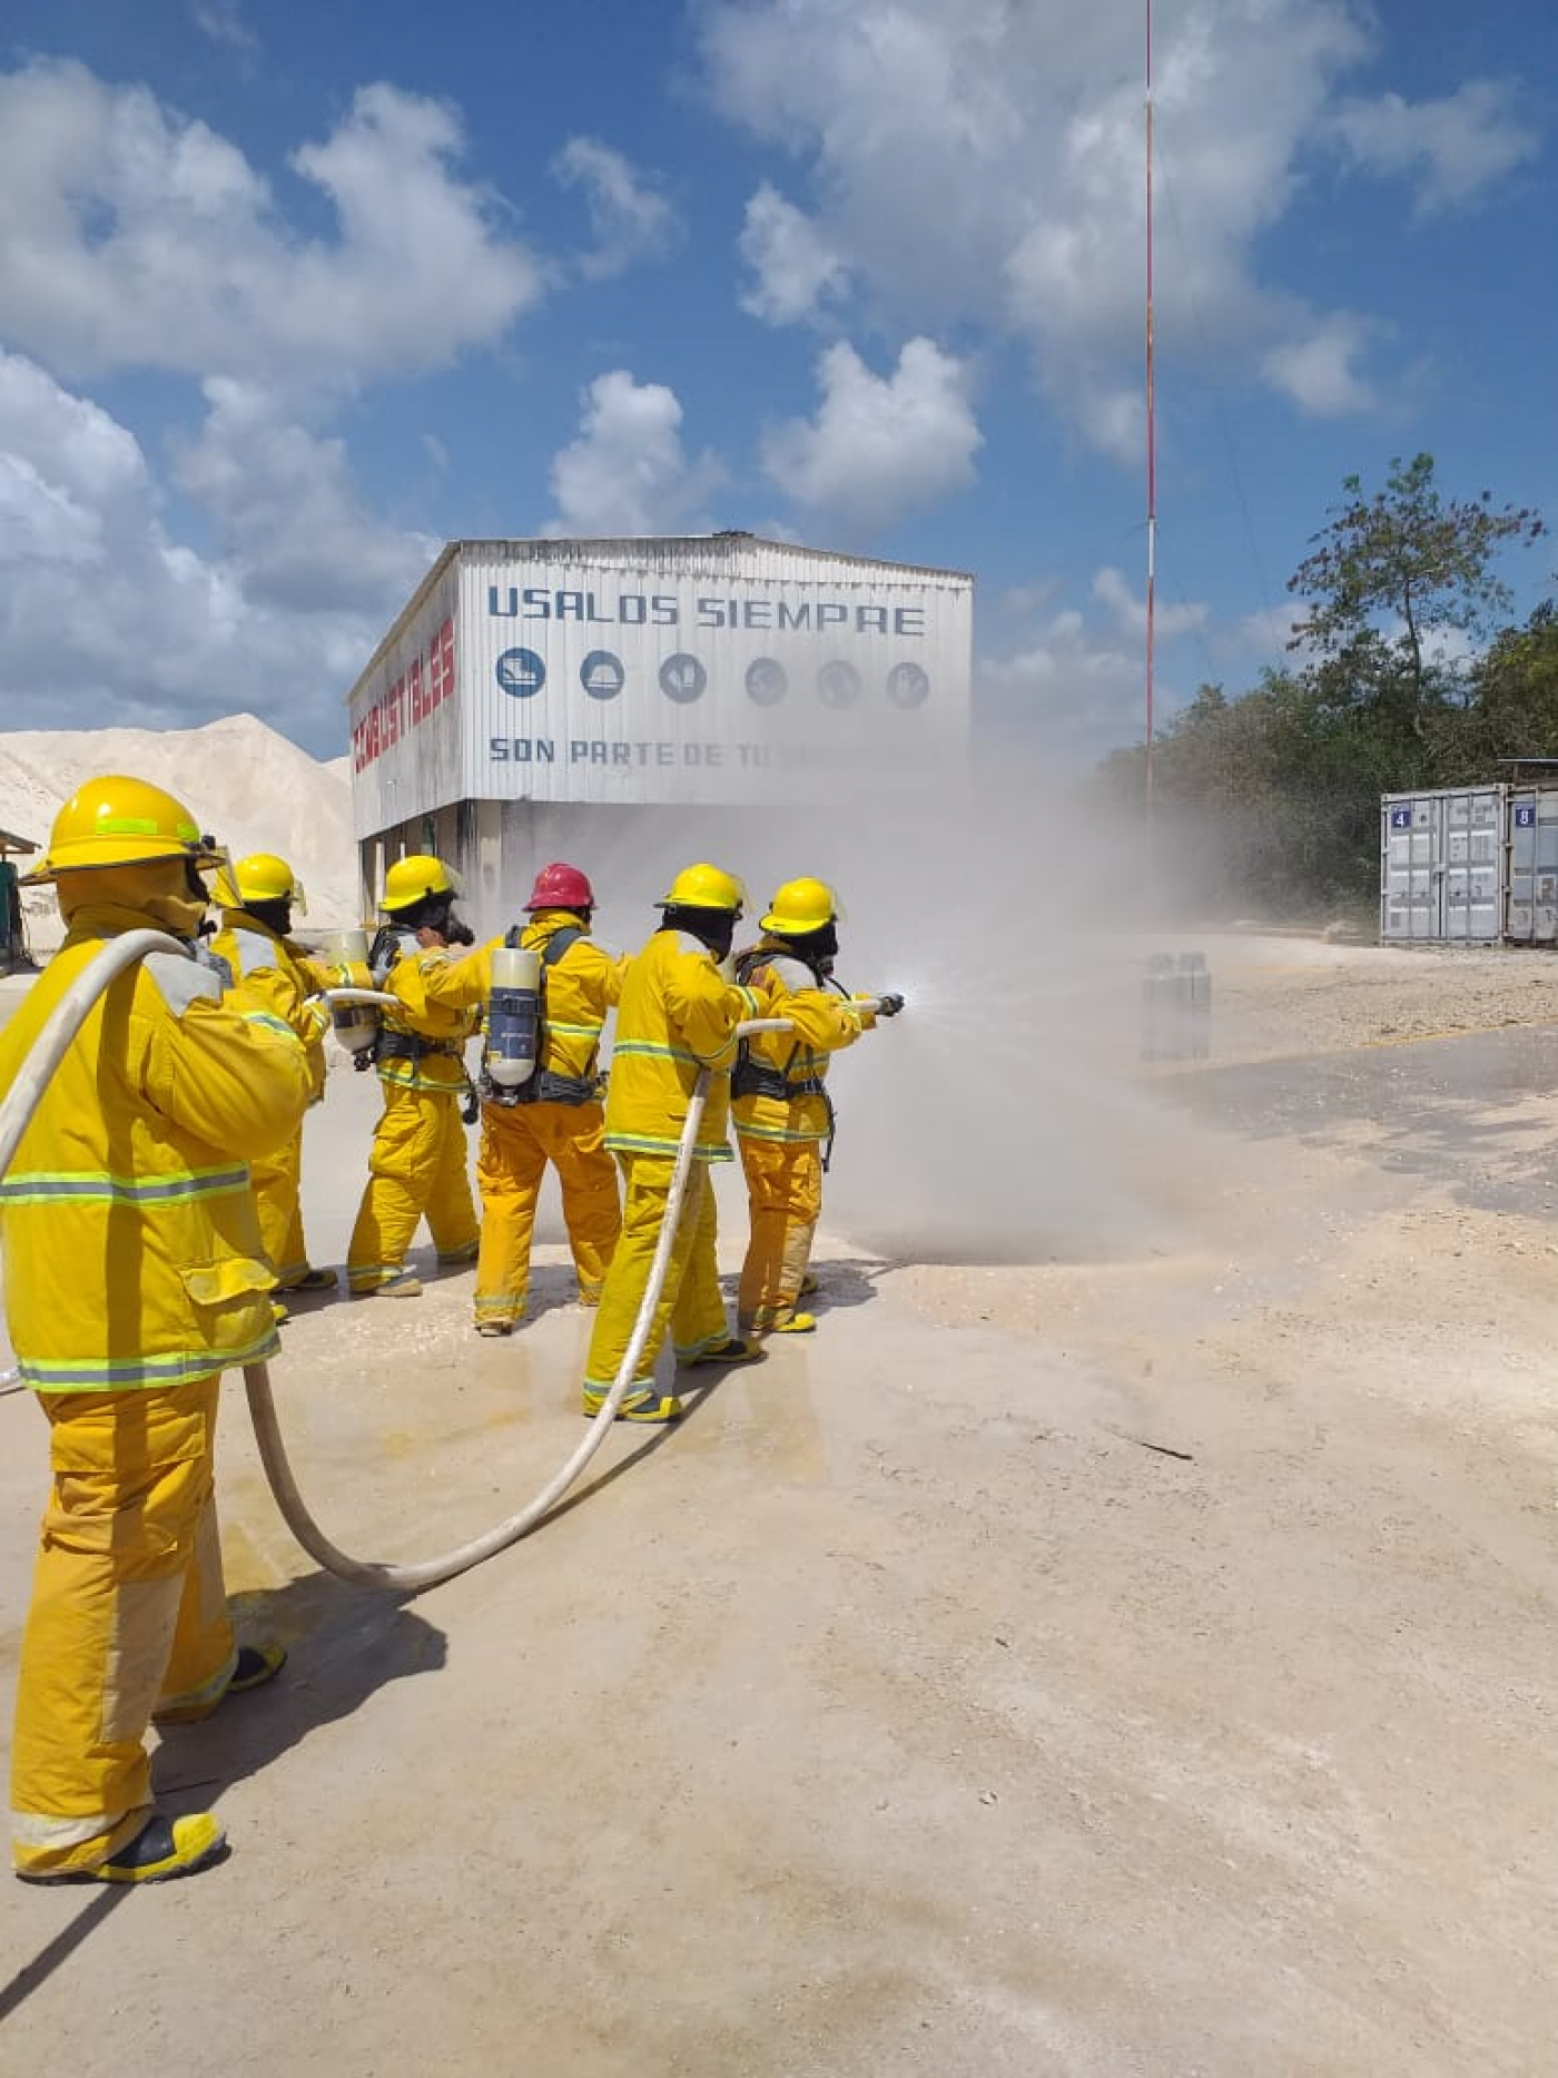
<instances>
[{"instance_id":1,"label":"yellow pants of the firefighter just left of the red-helmeted one","mask_svg":"<svg viewBox=\"0 0 1558 2078\"><path fill-rule=\"evenodd\" d=\"M401 1274L424 1216L440 1257L459 1261L476 1253L461 1097L459 1085L442 1091L384 1083L368 1189L347 1247L347 1282L355 1293L370 1293Z\"/></svg>"}]
</instances>

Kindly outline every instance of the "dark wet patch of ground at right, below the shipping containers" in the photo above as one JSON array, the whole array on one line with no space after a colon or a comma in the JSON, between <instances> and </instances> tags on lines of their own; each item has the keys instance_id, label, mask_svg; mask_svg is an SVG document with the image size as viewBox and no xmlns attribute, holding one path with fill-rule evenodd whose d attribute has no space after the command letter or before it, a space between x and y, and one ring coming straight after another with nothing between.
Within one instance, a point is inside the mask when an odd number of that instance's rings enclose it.
<instances>
[{"instance_id":1,"label":"dark wet patch of ground at right, below the shipping containers","mask_svg":"<svg viewBox=\"0 0 1558 2078\"><path fill-rule=\"evenodd\" d=\"M1317 1147L1365 1139L1381 1168L1433 1178L1465 1205L1558 1216L1558 1024L1213 1062L1163 1089L1228 1133Z\"/></svg>"}]
</instances>

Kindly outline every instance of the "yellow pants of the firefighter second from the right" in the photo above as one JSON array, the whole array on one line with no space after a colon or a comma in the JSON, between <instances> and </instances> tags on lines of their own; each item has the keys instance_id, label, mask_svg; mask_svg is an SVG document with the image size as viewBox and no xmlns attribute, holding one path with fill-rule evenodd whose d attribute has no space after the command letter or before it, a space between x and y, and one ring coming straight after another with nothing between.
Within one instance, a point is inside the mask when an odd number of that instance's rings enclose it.
<instances>
[{"instance_id":1,"label":"yellow pants of the firefighter second from the right","mask_svg":"<svg viewBox=\"0 0 1558 2078\"><path fill-rule=\"evenodd\" d=\"M675 1168L667 1155L617 1155L617 1162L623 1172L623 1222L617 1253L607 1270L607 1288L590 1336L590 1355L584 1363L584 1384L592 1392L611 1390L627 1355L654 1249L665 1226L671 1170ZM636 1382L648 1382L654 1376L654 1359L667 1330L677 1357L696 1357L704 1349L715 1349L729 1334L715 1243L715 1187L708 1178L708 1164L694 1162L681 1199L681 1218L671 1245L671 1266L665 1274L661 1303L654 1307L648 1340L634 1371Z\"/></svg>"}]
</instances>

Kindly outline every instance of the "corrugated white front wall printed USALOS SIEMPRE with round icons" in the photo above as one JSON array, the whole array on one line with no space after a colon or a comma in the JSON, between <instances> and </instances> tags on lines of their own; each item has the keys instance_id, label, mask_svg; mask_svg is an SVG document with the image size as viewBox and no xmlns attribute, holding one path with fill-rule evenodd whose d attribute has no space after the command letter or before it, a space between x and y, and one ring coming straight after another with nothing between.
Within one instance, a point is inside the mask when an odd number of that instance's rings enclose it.
<instances>
[{"instance_id":1,"label":"corrugated white front wall printed USALOS SIEMPRE with round icons","mask_svg":"<svg viewBox=\"0 0 1558 2078\"><path fill-rule=\"evenodd\" d=\"M848 798L968 738L972 584L773 542L467 542L480 800Z\"/></svg>"}]
</instances>

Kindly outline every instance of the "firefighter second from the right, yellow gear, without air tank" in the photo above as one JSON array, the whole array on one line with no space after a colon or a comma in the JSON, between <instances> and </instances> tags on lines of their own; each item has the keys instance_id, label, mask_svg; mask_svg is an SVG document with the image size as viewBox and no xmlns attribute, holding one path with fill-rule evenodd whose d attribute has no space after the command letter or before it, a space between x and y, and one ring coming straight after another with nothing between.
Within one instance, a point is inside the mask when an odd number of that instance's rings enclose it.
<instances>
[{"instance_id":1,"label":"firefighter second from the right, yellow gear, without air tank","mask_svg":"<svg viewBox=\"0 0 1558 2078\"><path fill-rule=\"evenodd\" d=\"M729 1162L729 1066L735 1027L767 1014L767 991L727 981L727 958L746 900L719 867L677 873L661 900L663 923L627 968L617 1006L607 1093L607 1147L623 1172L623 1230L607 1272L584 1374L584 1411L600 1411L621 1369L665 1226L677 1143L700 1068L719 1070L708 1089L671 1266L654 1309L623 1421L675 1421L681 1401L654 1386L667 1332L681 1363L746 1363L756 1347L729 1332L715 1259L710 1162Z\"/></svg>"}]
</instances>

